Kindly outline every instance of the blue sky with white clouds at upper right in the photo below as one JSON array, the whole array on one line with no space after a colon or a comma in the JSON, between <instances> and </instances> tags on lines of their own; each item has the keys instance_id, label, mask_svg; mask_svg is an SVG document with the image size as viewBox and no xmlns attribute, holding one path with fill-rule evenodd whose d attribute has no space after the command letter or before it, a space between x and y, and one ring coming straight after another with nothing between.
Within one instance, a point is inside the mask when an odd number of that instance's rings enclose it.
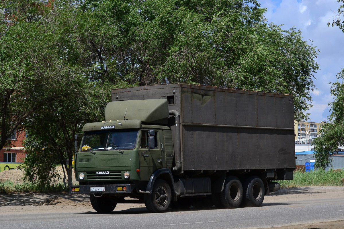
<instances>
[{"instance_id":1,"label":"blue sky with white clouds at upper right","mask_svg":"<svg viewBox=\"0 0 344 229\"><path fill-rule=\"evenodd\" d=\"M331 83L337 81L336 75L344 68L344 33L338 27L327 26L340 4L336 0L258 0L262 8L267 8L265 18L268 23L282 25L288 30L295 26L301 30L304 41L320 50L316 62L320 69L314 74L315 87L311 92L313 107L308 121L328 120ZM313 42L311 42L311 41Z\"/></svg>"}]
</instances>

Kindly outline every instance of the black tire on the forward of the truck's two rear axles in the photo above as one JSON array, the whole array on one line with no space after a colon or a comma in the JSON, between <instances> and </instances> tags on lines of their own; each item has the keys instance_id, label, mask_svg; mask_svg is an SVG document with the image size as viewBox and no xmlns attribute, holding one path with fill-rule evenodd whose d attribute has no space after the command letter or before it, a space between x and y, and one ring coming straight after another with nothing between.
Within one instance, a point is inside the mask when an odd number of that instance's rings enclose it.
<instances>
[{"instance_id":1,"label":"black tire on the forward of the truck's two rear axles","mask_svg":"<svg viewBox=\"0 0 344 229\"><path fill-rule=\"evenodd\" d=\"M243 185L236 176L228 176L225 179L225 189L220 193L220 200L225 208L240 207L244 191Z\"/></svg>"}]
</instances>

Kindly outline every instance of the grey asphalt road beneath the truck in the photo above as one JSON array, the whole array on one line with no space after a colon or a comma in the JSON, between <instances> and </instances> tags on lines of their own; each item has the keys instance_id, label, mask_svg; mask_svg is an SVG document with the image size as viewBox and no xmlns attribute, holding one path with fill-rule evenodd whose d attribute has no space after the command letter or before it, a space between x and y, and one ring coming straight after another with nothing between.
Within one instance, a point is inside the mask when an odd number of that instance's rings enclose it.
<instances>
[{"instance_id":1,"label":"grey asphalt road beneath the truck","mask_svg":"<svg viewBox=\"0 0 344 229\"><path fill-rule=\"evenodd\" d=\"M295 189L294 189L295 190ZM321 192L297 193L267 196L262 206L239 209L208 209L170 211L161 214L148 213L142 205L113 211L111 214L97 214L93 209L61 207L54 210L49 206L39 208L23 206L0 207L1 228L150 228L150 229L201 229L201 228L268 228L284 225L297 225L311 222L324 222L344 219L344 190L338 189L332 195L318 195ZM298 195L297 198L293 196ZM302 195L304 195L302 197ZM301 196L301 198L300 198ZM314 198L313 198L314 197ZM25 208L27 207L27 210ZM31 212L30 212L31 211ZM343 225L344 227L344 225Z\"/></svg>"}]
</instances>

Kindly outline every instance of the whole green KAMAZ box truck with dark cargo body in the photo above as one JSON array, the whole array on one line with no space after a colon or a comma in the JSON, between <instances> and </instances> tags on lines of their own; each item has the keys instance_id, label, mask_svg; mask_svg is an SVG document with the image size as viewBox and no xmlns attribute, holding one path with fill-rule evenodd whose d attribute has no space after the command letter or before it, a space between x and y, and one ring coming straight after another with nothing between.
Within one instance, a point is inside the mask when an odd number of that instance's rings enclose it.
<instances>
[{"instance_id":1,"label":"whole green KAMAZ box truck with dark cargo body","mask_svg":"<svg viewBox=\"0 0 344 229\"><path fill-rule=\"evenodd\" d=\"M258 207L275 180L293 179L291 95L189 84L111 93L105 120L83 127L69 188L98 212Z\"/></svg>"}]
</instances>

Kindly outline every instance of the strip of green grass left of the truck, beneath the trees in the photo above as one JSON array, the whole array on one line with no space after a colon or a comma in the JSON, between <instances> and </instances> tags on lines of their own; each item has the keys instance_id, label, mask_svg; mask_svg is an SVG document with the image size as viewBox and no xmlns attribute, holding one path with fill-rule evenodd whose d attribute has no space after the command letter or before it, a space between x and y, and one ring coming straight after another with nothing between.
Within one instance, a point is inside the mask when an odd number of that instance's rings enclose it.
<instances>
[{"instance_id":1,"label":"strip of green grass left of the truck, beneath the trees","mask_svg":"<svg viewBox=\"0 0 344 229\"><path fill-rule=\"evenodd\" d=\"M63 183L54 184L51 186L43 186L34 183L14 184L11 181L0 182L0 192L66 192Z\"/></svg>"}]
</instances>

